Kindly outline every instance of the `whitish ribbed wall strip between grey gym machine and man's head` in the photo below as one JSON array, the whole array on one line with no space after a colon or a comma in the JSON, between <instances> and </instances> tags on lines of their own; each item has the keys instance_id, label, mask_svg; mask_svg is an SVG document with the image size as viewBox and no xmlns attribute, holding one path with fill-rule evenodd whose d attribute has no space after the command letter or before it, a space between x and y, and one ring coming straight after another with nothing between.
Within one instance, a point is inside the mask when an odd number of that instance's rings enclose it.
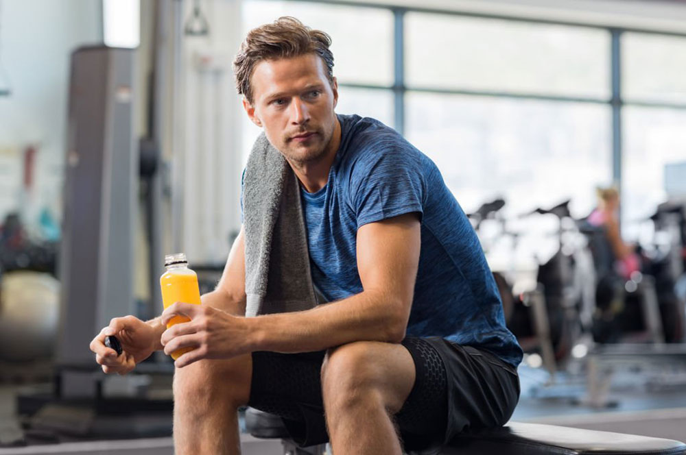
<instances>
[{"instance_id":1,"label":"whitish ribbed wall strip between grey gym machine and man's head","mask_svg":"<svg viewBox=\"0 0 686 455\"><path fill-rule=\"evenodd\" d=\"M181 25L192 6L184 2ZM209 34L182 34L176 49L180 68L175 73L169 59L171 87L161 106L163 156L172 165L173 193L165 213L166 234L171 233L165 250L184 251L191 265L225 262L229 236L240 227L240 100L231 62L240 39L241 1L206 0L201 10ZM170 31L167 45L172 42Z\"/></svg>"}]
</instances>

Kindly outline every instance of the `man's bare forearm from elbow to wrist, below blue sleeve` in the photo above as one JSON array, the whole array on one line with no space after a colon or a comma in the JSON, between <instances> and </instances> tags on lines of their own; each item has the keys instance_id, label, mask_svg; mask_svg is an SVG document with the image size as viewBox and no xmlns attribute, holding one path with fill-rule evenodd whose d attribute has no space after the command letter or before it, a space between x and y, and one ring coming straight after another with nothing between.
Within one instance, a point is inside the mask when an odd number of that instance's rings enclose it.
<instances>
[{"instance_id":1,"label":"man's bare forearm from elbow to wrist, below blue sleeve","mask_svg":"<svg viewBox=\"0 0 686 455\"><path fill-rule=\"evenodd\" d=\"M365 291L311 310L246 319L253 351L311 352L353 341L399 343L409 317L407 302Z\"/></svg>"}]
</instances>

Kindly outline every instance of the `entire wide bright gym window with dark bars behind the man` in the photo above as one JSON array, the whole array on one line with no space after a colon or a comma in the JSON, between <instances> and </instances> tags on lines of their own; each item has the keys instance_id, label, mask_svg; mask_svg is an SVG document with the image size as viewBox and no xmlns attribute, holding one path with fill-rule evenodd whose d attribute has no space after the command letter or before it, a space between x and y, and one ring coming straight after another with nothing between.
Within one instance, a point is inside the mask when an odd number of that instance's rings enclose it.
<instances>
[{"instance_id":1,"label":"entire wide bright gym window with dark bars behind the man","mask_svg":"<svg viewBox=\"0 0 686 455\"><path fill-rule=\"evenodd\" d=\"M246 0L246 31L281 15L331 34L337 111L402 132L466 212L571 199L583 217L615 183L632 236L686 162L686 36L287 0Z\"/></svg>"}]
</instances>

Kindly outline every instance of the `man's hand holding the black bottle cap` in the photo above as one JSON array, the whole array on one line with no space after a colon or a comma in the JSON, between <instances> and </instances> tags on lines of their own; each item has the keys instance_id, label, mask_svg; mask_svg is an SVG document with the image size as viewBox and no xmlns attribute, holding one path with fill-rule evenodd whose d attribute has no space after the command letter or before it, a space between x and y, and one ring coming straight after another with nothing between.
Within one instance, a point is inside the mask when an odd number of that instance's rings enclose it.
<instances>
[{"instance_id":1,"label":"man's hand holding the black bottle cap","mask_svg":"<svg viewBox=\"0 0 686 455\"><path fill-rule=\"evenodd\" d=\"M91 341L91 351L95 352L95 361L102 365L102 371L123 375L150 357L158 343L155 339L158 333L152 325L137 317L115 317ZM105 346L105 337L108 335L114 335L119 340L121 355L117 356L114 349Z\"/></svg>"}]
</instances>

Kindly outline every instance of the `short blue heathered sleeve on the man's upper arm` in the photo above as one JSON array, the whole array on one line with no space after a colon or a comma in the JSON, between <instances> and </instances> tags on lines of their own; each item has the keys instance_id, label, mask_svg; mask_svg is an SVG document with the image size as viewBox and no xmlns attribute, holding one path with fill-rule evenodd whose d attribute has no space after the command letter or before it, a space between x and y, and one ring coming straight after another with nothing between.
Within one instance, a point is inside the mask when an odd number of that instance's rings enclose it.
<instances>
[{"instance_id":1,"label":"short blue heathered sleeve on the man's upper arm","mask_svg":"<svg viewBox=\"0 0 686 455\"><path fill-rule=\"evenodd\" d=\"M357 229L401 214L423 215L425 183L418 153L401 145L368 151L351 171L350 195Z\"/></svg>"}]
</instances>

